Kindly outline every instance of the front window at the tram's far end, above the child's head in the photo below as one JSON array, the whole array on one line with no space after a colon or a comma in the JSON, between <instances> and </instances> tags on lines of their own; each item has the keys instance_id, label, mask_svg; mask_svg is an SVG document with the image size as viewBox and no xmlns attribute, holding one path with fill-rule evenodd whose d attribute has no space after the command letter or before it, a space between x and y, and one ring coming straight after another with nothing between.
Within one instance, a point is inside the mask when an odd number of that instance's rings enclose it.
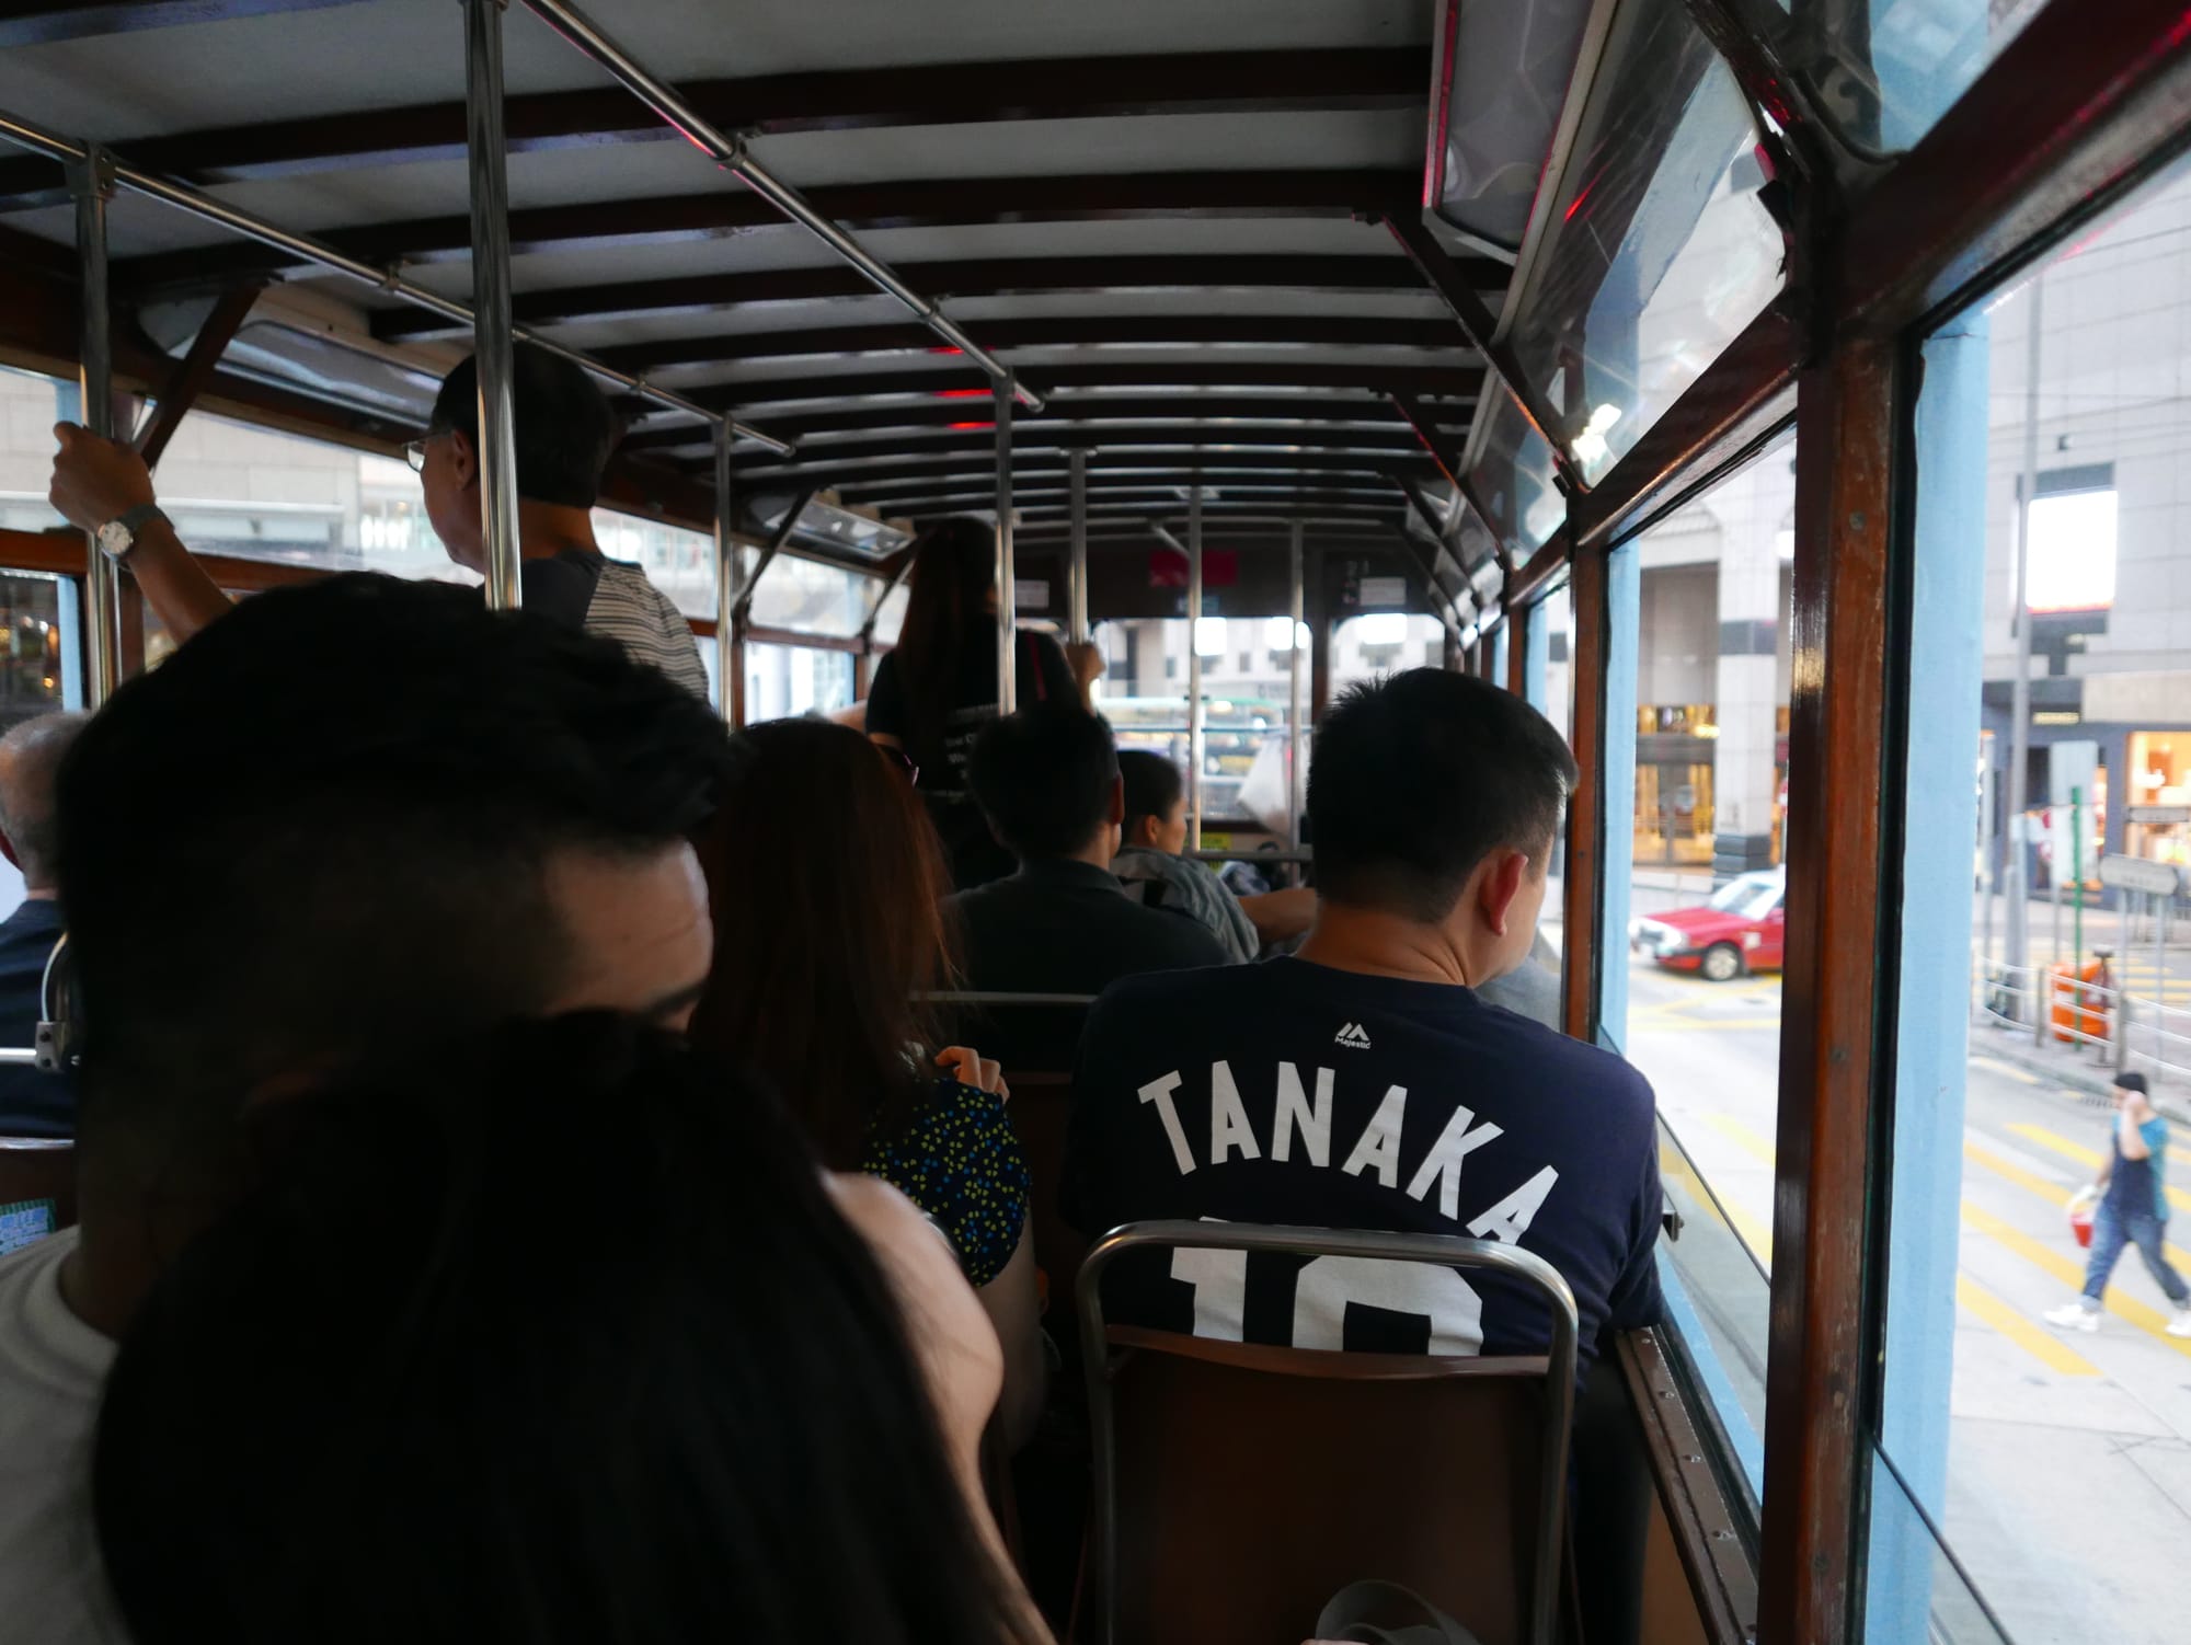
<instances>
[{"instance_id":1,"label":"front window at the tram's far end, above the child's head","mask_svg":"<svg viewBox=\"0 0 2191 1645\"><path fill-rule=\"evenodd\" d=\"M1227 850L1229 835L1262 830L1290 839L1293 648L1284 618L1203 618L1203 845ZM1299 635L1306 635L1306 624ZM1150 749L1188 767L1188 620L1100 622L1096 712L1122 749ZM1306 640L1304 640L1306 644ZM1301 653L1306 675L1308 653ZM1337 690L1337 679L1334 679ZM1306 686L1304 686L1306 697Z\"/></svg>"}]
</instances>

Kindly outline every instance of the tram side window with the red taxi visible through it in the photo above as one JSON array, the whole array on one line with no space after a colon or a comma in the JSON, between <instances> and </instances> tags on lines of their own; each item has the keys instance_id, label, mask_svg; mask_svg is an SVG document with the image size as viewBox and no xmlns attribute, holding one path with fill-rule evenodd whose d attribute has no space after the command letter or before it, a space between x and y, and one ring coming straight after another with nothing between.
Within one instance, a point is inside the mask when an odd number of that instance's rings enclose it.
<instances>
[{"instance_id":1,"label":"tram side window with the red taxi visible through it","mask_svg":"<svg viewBox=\"0 0 2191 1645\"><path fill-rule=\"evenodd\" d=\"M1779 1130L1792 436L1608 563L1606 1036L1650 1078L1685 1351L1759 1485Z\"/></svg>"}]
</instances>

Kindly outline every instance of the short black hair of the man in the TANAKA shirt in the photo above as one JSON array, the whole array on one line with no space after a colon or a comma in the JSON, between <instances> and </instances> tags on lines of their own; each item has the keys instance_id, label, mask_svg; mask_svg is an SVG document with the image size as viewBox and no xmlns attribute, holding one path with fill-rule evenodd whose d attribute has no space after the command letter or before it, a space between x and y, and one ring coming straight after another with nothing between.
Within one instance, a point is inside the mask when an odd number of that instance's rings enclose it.
<instances>
[{"instance_id":1,"label":"short black hair of the man in the TANAKA shirt","mask_svg":"<svg viewBox=\"0 0 2191 1645\"><path fill-rule=\"evenodd\" d=\"M1317 729L1317 891L1433 924L1496 850L1542 863L1575 756L1521 697L1442 668L1354 686Z\"/></svg>"}]
</instances>

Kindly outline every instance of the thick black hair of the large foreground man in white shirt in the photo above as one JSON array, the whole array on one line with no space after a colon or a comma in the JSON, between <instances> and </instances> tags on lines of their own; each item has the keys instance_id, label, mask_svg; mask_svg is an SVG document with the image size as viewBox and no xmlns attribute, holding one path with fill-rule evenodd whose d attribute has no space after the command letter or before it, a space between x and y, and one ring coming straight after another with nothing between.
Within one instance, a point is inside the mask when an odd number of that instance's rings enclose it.
<instances>
[{"instance_id":1,"label":"thick black hair of the large foreground man in white shirt","mask_svg":"<svg viewBox=\"0 0 2191 1645\"><path fill-rule=\"evenodd\" d=\"M267 1080L552 1003L550 859L675 843L723 751L657 668L471 589L245 600L61 764L88 1154L188 1167Z\"/></svg>"}]
</instances>

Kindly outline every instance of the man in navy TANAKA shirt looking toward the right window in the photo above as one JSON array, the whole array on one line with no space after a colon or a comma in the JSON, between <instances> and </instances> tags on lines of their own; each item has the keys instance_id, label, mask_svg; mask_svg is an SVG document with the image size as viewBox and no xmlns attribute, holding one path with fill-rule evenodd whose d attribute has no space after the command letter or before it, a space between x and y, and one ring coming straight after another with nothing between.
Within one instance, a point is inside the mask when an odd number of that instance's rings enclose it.
<instances>
[{"instance_id":1,"label":"man in navy TANAKA shirt looking toward the right window","mask_svg":"<svg viewBox=\"0 0 2191 1645\"><path fill-rule=\"evenodd\" d=\"M1065 1213L1453 1233L1564 1275L1582 1356L1659 1319L1650 1084L1477 997L1523 964L1575 762L1496 686L1415 668L1317 732L1317 927L1299 955L1128 979L1089 1012ZM1540 1354L1542 1303L1481 1270L1128 1253L1113 1319L1356 1351Z\"/></svg>"}]
</instances>

